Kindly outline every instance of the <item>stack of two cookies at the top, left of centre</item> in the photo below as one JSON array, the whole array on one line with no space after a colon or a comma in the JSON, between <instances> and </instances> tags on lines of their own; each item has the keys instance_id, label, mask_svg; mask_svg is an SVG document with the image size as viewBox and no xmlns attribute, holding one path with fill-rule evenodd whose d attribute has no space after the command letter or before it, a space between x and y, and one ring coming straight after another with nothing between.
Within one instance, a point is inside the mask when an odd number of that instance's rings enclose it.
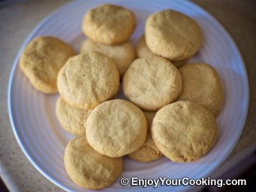
<instances>
[{"instance_id":1,"label":"stack of two cookies at the top, left of centre","mask_svg":"<svg viewBox=\"0 0 256 192\"><path fill-rule=\"evenodd\" d=\"M129 38L136 27L134 13L122 6L104 4L89 10L82 22L82 31L88 38L80 52L97 51L111 57L118 67L120 77L135 59Z\"/></svg>"}]
</instances>

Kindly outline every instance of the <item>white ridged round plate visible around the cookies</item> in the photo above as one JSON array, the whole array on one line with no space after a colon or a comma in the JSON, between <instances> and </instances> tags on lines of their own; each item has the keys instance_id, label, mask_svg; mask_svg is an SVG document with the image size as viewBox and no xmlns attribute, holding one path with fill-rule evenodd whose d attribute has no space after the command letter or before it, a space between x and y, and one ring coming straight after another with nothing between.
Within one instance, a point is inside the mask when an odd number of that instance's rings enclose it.
<instances>
[{"instance_id":1,"label":"white ridged round plate visible around the cookies","mask_svg":"<svg viewBox=\"0 0 256 192\"><path fill-rule=\"evenodd\" d=\"M136 42L143 33L145 19L150 13L171 8L185 13L200 25L204 40L200 52L191 61L210 63L221 78L225 92L224 105L218 116L219 136L211 152L193 163L173 163L163 157L152 163L138 163L124 158L124 172L120 177L137 176L139 178L200 178L209 175L230 154L243 130L248 109L248 79L243 60L236 45L227 32L209 13L188 1L114 1L134 11L137 28L132 35ZM8 90L8 108L13 132L29 161L47 179L67 191L86 191L76 186L68 177L63 165L65 145L72 138L63 131L55 115L55 102L58 95L45 95L37 92L28 79L20 72L18 61L20 52L29 40L39 35L58 36L79 49L81 40L81 20L84 13L103 1L74 1L62 6L36 26L26 38L13 63ZM121 186L119 179L111 187L102 191L147 191L153 188ZM164 187L162 190L181 190L184 186Z\"/></svg>"}]
</instances>

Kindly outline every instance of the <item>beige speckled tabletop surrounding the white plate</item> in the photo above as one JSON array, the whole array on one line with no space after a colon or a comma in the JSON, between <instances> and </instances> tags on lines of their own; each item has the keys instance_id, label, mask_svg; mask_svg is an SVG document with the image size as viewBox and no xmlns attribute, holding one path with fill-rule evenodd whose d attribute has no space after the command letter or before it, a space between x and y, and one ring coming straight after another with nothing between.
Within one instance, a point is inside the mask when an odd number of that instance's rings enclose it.
<instances>
[{"instance_id":1,"label":"beige speckled tabletop surrounding the white plate","mask_svg":"<svg viewBox=\"0 0 256 192\"><path fill-rule=\"evenodd\" d=\"M193 0L227 29L248 72L250 104L244 130L227 161L256 141L256 1ZM10 3L11 2L11 3ZM10 191L62 191L29 163L15 140L7 109L7 86L20 45L47 14L67 0L7 1L0 4L0 175Z\"/></svg>"}]
</instances>

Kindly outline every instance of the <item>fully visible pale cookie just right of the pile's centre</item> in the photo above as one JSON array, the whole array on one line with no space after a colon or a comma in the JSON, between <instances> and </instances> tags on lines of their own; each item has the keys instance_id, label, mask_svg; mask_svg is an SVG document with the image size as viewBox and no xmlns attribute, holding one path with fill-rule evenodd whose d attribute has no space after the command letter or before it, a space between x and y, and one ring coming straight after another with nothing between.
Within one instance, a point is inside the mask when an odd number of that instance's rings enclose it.
<instances>
[{"instance_id":1,"label":"fully visible pale cookie just right of the pile's centre","mask_svg":"<svg viewBox=\"0 0 256 192\"><path fill-rule=\"evenodd\" d=\"M170 61L153 56L132 62L124 74L123 88L125 97L141 109L156 111L177 99L182 79Z\"/></svg>"}]
</instances>

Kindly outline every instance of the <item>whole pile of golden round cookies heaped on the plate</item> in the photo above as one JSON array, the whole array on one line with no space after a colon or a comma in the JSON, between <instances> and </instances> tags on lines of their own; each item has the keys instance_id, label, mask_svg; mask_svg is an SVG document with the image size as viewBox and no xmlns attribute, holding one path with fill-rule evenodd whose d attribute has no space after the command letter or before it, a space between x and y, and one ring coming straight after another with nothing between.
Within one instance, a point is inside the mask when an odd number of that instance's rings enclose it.
<instances>
[{"instance_id":1,"label":"whole pile of golden round cookies heaped on the plate","mask_svg":"<svg viewBox=\"0 0 256 192\"><path fill-rule=\"evenodd\" d=\"M218 138L218 74L206 63L184 65L202 44L198 24L174 10L153 13L136 51L129 41L135 28L131 10L104 4L84 15L88 38L79 54L63 40L39 36L20 56L36 90L60 93L56 116L76 135L65 148L65 169L82 188L113 184L123 156L195 161ZM119 89L127 100L113 99Z\"/></svg>"}]
</instances>

